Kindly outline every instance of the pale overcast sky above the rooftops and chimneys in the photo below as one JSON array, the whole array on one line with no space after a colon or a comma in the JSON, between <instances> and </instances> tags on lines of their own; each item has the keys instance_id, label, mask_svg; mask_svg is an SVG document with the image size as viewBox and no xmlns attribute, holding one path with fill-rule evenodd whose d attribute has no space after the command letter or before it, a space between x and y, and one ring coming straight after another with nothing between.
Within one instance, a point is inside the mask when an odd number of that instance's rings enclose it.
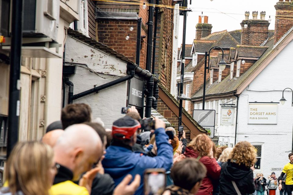
<instances>
[{"instance_id":1,"label":"pale overcast sky above the rooftops and chimneys","mask_svg":"<svg viewBox=\"0 0 293 195\"><path fill-rule=\"evenodd\" d=\"M245 11L250 12L249 19L252 19L253 11L258 11L259 14L261 11L266 11L266 19L269 19L269 16L272 19L269 29L274 29L276 15L274 5L277 2L278 0L192 0L192 4L188 5L192 12L188 12L187 16L186 44L192 44L195 38L195 25L198 23L201 12L204 16L208 16L208 23L213 26L212 33L241 29L240 23L245 18ZM183 16L180 16L179 45L182 43L182 29Z\"/></svg>"}]
</instances>

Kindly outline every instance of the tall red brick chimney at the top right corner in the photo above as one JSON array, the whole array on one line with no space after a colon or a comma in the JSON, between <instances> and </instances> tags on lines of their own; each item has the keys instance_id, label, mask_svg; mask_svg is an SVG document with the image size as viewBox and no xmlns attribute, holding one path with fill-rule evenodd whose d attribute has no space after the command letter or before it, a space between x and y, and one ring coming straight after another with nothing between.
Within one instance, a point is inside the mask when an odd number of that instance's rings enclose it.
<instances>
[{"instance_id":1,"label":"tall red brick chimney at the top right corner","mask_svg":"<svg viewBox=\"0 0 293 195\"><path fill-rule=\"evenodd\" d=\"M275 5L276 9L276 19L275 19L275 40L277 41L293 26L293 0L289 2L289 0L283 1L279 0Z\"/></svg>"}]
</instances>

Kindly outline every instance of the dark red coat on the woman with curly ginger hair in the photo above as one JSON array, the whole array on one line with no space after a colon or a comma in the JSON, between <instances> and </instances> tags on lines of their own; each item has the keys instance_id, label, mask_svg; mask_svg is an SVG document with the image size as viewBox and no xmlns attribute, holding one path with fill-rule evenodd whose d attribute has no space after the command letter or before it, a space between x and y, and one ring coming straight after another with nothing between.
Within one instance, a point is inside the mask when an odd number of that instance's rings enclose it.
<instances>
[{"instance_id":1,"label":"dark red coat on the woman with curly ginger hair","mask_svg":"<svg viewBox=\"0 0 293 195\"><path fill-rule=\"evenodd\" d=\"M186 147L184 155L186 157L197 158L198 153L192 150L189 147ZM201 187L197 192L197 195L208 195L213 192L213 181L219 180L221 167L218 165L215 158L209 158L207 156L203 156L199 159L204 166L207 168L207 175L204 177L201 183Z\"/></svg>"}]
</instances>

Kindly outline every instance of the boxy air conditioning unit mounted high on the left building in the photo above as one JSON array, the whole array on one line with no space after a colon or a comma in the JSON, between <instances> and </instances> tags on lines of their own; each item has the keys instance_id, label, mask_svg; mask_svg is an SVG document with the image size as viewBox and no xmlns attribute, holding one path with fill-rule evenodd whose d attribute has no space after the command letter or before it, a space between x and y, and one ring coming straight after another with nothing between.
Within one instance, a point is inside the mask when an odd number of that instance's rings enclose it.
<instances>
[{"instance_id":1,"label":"boxy air conditioning unit mounted high on the left building","mask_svg":"<svg viewBox=\"0 0 293 195\"><path fill-rule=\"evenodd\" d=\"M57 41L60 0L24 0L23 36Z\"/></svg>"}]
</instances>

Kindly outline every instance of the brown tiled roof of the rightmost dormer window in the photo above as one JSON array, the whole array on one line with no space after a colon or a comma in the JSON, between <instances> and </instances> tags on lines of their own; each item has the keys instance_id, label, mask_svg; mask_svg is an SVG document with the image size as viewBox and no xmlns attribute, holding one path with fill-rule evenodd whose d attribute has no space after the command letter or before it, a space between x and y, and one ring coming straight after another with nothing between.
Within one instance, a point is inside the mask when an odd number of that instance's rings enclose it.
<instances>
[{"instance_id":1,"label":"brown tiled roof of the rightmost dormer window","mask_svg":"<svg viewBox=\"0 0 293 195\"><path fill-rule=\"evenodd\" d=\"M237 56L238 57L255 57L260 58L262 54L267 50L268 47L264 46L248 46L248 45L237 45Z\"/></svg>"}]
</instances>

